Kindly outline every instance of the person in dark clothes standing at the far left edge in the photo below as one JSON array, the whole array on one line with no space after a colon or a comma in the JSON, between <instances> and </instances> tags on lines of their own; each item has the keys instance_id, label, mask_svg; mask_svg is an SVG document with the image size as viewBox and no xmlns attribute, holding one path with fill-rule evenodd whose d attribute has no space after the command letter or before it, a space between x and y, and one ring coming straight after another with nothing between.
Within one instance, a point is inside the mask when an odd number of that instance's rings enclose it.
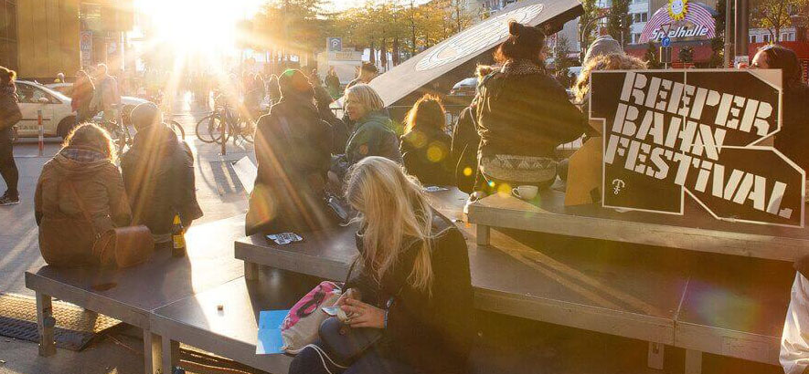
<instances>
[{"instance_id":1,"label":"person in dark clothes standing at the far left edge","mask_svg":"<svg viewBox=\"0 0 809 374\"><path fill-rule=\"evenodd\" d=\"M13 205L20 202L17 192L19 171L14 161L14 125L23 114L20 112L16 97L14 79L16 72L0 67L0 175L5 181L6 190L0 196L0 206Z\"/></svg>"}]
</instances>

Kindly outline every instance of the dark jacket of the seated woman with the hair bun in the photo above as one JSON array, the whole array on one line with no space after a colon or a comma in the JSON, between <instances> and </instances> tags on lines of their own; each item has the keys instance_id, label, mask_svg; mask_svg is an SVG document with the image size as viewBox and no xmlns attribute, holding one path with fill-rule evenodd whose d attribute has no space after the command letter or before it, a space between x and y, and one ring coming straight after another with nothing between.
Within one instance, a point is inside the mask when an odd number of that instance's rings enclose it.
<instances>
[{"instance_id":1,"label":"dark jacket of the seated woman with the hair bun","mask_svg":"<svg viewBox=\"0 0 809 374\"><path fill-rule=\"evenodd\" d=\"M585 130L565 89L542 73L492 73L481 82L476 103L480 156L553 157L559 144Z\"/></svg>"}]
</instances>

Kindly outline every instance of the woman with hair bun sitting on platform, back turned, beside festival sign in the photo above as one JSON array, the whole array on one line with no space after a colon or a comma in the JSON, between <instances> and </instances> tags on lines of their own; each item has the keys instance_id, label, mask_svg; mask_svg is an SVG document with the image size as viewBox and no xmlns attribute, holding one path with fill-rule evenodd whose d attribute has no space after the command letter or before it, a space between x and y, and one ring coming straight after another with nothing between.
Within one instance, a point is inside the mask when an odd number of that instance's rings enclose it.
<instances>
[{"instance_id":1,"label":"woman with hair bun sitting on platform, back turned, beside festival sign","mask_svg":"<svg viewBox=\"0 0 809 374\"><path fill-rule=\"evenodd\" d=\"M545 34L514 21L508 30L495 51L502 68L484 78L475 99L484 181L477 183L473 200L482 195L478 192L511 191L516 185L549 186L556 179L556 148L585 130L580 110L545 70Z\"/></svg>"}]
</instances>

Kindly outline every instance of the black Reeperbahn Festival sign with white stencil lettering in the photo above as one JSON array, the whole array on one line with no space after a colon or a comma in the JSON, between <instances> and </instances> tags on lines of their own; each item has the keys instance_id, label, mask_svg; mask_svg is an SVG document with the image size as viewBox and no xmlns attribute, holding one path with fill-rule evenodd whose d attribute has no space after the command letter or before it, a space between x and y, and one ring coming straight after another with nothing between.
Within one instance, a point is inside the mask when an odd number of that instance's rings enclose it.
<instances>
[{"instance_id":1,"label":"black Reeperbahn Festival sign with white stencil lettering","mask_svg":"<svg viewBox=\"0 0 809 374\"><path fill-rule=\"evenodd\" d=\"M780 70L593 72L604 207L804 226L804 171L772 146ZM768 139L769 138L769 139Z\"/></svg>"}]
</instances>

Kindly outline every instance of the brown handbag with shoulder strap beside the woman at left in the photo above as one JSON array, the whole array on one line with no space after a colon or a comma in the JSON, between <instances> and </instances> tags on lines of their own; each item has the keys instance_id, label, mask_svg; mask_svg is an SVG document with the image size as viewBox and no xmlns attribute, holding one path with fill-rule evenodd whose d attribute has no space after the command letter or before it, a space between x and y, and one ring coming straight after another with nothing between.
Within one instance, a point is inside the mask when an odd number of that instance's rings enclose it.
<instances>
[{"instance_id":1,"label":"brown handbag with shoulder strap beside the woman at left","mask_svg":"<svg viewBox=\"0 0 809 374\"><path fill-rule=\"evenodd\" d=\"M66 183L79 210L87 223L95 231L90 213L84 207L84 202L76 192L73 182ZM101 266L115 265L117 267L129 267L146 262L154 253L154 238L149 228L143 224L127 227L116 227L107 230L105 233L96 233L92 243L92 255L99 261Z\"/></svg>"}]
</instances>

